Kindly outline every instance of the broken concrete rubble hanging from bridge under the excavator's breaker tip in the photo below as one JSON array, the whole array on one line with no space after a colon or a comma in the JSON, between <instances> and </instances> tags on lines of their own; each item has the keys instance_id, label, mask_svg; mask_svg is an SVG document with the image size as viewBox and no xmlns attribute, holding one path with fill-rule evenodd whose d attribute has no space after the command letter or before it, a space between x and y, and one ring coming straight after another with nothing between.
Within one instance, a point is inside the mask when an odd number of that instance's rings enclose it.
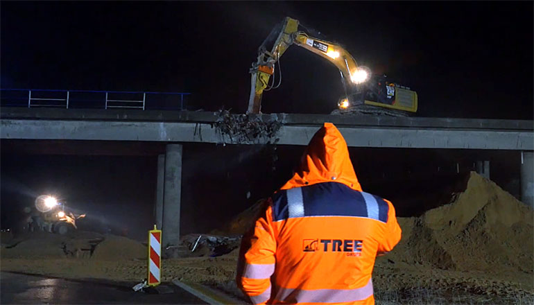
<instances>
[{"instance_id":1,"label":"broken concrete rubble hanging from bridge under the excavator's breaker tip","mask_svg":"<svg viewBox=\"0 0 534 305\"><path fill-rule=\"evenodd\" d=\"M277 116L269 117L268 121L263 121L262 116L231 114L228 110L220 110L213 127L223 143L277 143L277 132L282 123Z\"/></svg>"}]
</instances>

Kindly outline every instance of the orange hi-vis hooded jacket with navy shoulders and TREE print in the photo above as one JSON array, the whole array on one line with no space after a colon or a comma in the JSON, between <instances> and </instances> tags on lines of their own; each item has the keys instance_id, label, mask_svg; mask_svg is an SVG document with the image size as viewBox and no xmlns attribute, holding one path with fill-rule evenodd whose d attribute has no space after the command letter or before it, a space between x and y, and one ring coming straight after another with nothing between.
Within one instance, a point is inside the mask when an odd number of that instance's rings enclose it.
<instances>
[{"instance_id":1,"label":"orange hi-vis hooded jacket with navy shoulders and TREE print","mask_svg":"<svg viewBox=\"0 0 534 305\"><path fill-rule=\"evenodd\" d=\"M388 200L364 193L331 123L241 243L236 282L253 304L374 304L377 254L401 238Z\"/></svg>"}]
</instances>

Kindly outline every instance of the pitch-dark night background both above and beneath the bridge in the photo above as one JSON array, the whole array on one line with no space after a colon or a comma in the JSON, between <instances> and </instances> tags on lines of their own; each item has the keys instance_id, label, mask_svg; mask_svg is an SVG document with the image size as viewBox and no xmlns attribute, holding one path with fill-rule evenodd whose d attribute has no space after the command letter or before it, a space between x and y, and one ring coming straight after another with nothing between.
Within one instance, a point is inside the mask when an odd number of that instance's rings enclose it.
<instances>
[{"instance_id":1,"label":"pitch-dark night background both above and beneath the bridge","mask_svg":"<svg viewBox=\"0 0 534 305\"><path fill-rule=\"evenodd\" d=\"M257 47L285 16L417 91L417 116L533 119L532 2L2 1L0 85L190 92L192 109L244 112ZM264 94L264 112L336 107L343 89L329 62L293 46L281 67L282 85ZM132 148L137 153L110 153L96 142L69 155L50 153L54 143L15 142L1 145L2 227L36 195L56 193L89 220L145 236L163 148L142 143ZM182 233L214 229L277 189L302 150L184 145ZM490 159L492 180L519 193L515 152L365 148L351 155L365 191L396 200L401 216L438 204L422 198L461 180L457 162L466 173L475 160Z\"/></svg>"}]
</instances>

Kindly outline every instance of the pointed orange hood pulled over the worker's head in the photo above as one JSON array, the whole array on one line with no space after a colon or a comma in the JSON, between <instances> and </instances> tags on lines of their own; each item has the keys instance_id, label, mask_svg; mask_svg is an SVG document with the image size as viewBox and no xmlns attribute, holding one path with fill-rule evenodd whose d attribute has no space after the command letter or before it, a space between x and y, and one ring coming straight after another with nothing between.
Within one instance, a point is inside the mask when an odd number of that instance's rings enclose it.
<instances>
[{"instance_id":1,"label":"pointed orange hood pulled over the worker's head","mask_svg":"<svg viewBox=\"0 0 534 305\"><path fill-rule=\"evenodd\" d=\"M325 123L313 135L302 155L300 166L281 189L293 189L321 182L339 182L361 191L349 148L341 132L332 123Z\"/></svg>"}]
</instances>

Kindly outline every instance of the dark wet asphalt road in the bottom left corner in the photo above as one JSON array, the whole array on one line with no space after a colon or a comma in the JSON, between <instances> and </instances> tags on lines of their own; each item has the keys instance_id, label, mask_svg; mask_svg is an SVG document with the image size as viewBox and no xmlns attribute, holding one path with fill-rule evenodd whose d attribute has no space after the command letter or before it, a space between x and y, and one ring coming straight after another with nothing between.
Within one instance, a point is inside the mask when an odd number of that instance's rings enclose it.
<instances>
[{"instance_id":1,"label":"dark wet asphalt road in the bottom left corner","mask_svg":"<svg viewBox=\"0 0 534 305\"><path fill-rule=\"evenodd\" d=\"M172 293L147 294L124 284L0 272L0 304L207 304L178 286L167 286Z\"/></svg>"}]
</instances>

